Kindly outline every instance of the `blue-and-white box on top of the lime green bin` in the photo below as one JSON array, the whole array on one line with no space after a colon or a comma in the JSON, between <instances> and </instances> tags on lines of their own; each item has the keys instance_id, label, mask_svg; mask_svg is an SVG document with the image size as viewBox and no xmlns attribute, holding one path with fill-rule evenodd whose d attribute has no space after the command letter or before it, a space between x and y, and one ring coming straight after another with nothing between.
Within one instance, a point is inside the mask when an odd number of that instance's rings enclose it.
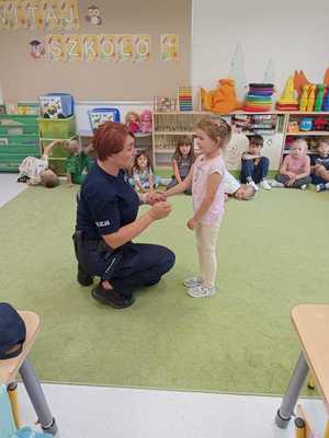
<instances>
[{"instance_id":1,"label":"blue-and-white box on top of the lime green bin","mask_svg":"<svg viewBox=\"0 0 329 438\"><path fill-rule=\"evenodd\" d=\"M38 99L44 118L67 118L75 113L73 97L70 94L48 93Z\"/></svg>"}]
</instances>

